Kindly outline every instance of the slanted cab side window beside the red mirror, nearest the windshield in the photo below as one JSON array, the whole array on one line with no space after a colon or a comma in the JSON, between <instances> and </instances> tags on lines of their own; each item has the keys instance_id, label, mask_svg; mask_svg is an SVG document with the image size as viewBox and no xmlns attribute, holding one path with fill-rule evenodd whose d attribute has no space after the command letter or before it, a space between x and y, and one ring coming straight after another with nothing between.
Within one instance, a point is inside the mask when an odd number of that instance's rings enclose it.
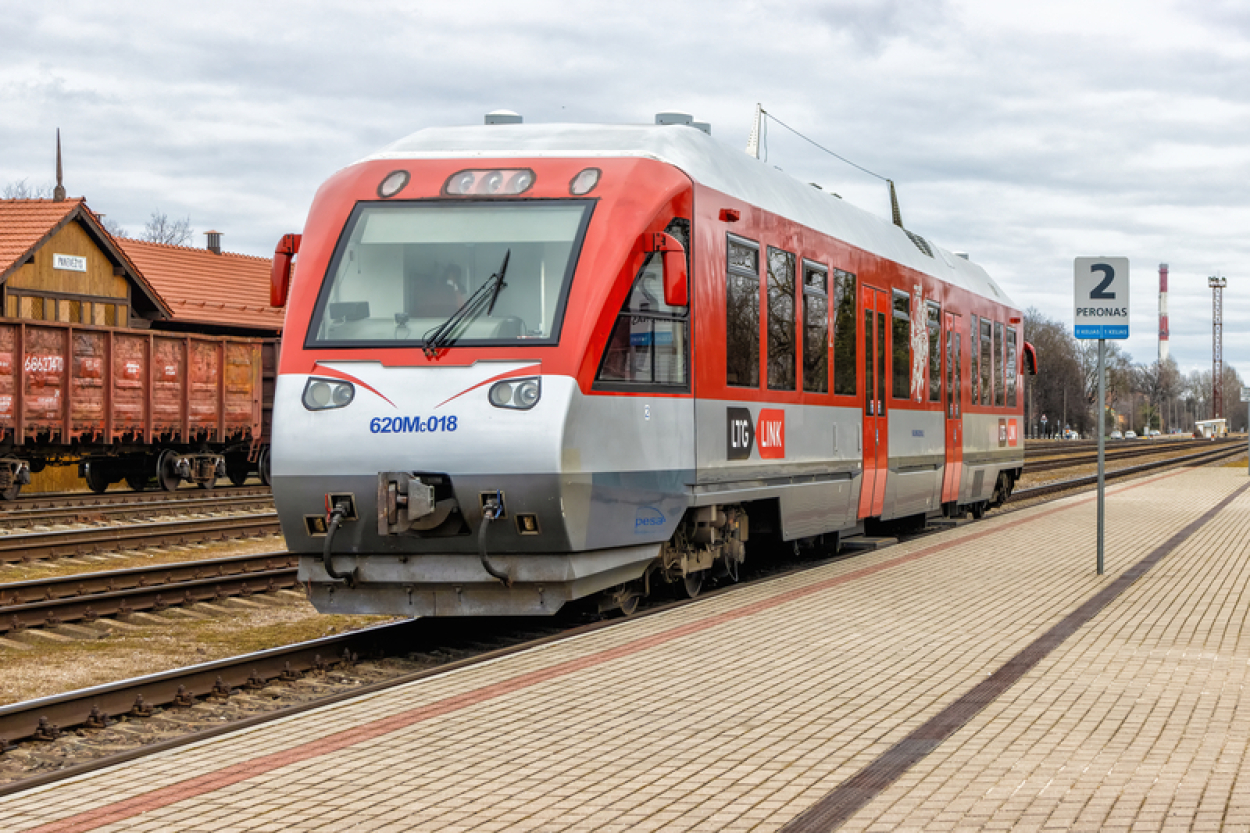
<instances>
[{"instance_id":1,"label":"slanted cab side window beside the red mirror, nearest the windshield","mask_svg":"<svg viewBox=\"0 0 1250 833\"><path fill-rule=\"evenodd\" d=\"M616 315L596 380L685 386L688 315L664 303L664 256L651 253Z\"/></svg>"}]
</instances>

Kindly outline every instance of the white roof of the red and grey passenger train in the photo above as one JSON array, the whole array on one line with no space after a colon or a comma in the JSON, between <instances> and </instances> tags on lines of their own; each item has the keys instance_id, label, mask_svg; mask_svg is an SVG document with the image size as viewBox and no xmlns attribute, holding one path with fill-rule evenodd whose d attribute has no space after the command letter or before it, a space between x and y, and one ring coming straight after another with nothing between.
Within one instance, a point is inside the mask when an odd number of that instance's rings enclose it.
<instances>
[{"instance_id":1,"label":"white roof of the red and grey passenger train","mask_svg":"<svg viewBox=\"0 0 1250 833\"><path fill-rule=\"evenodd\" d=\"M1006 293L984 269L934 245L930 258L889 220L748 156L686 125L514 124L428 128L375 159L539 159L639 156L668 163L694 181L785 216L910 269L1001 304Z\"/></svg>"}]
</instances>

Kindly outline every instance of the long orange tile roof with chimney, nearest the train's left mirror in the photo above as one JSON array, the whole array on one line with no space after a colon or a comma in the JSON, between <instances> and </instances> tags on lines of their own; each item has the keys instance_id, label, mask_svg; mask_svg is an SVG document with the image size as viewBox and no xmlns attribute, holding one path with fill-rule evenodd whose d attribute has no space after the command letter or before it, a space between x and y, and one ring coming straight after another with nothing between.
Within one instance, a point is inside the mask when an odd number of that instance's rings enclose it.
<instances>
[{"instance_id":1,"label":"long orange tile roof with chimney, nearest the train's left mirror","mask_svg":"<svg viewBox=\"0 0 1250 833\"><path fill-rule=\"evenodd\" d=\"M282 310L269 305L268 258L115 239L175 321L282 329Z\"/></svg>"}]
</instances>

